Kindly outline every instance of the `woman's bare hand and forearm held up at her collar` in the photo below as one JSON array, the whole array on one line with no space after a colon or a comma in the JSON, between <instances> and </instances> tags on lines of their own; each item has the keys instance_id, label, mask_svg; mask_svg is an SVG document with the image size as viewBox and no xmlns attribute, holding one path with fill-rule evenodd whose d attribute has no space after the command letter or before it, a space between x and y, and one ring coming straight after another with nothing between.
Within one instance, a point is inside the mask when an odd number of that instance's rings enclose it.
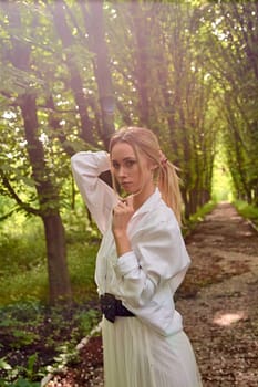
<instances>
[{"instance_id":1,"label":"woman's bare hand and forearm held up at her collar","mask_svg":"<svg viewBox=\"0 0 258 387\"><path fill-rule=\"evenodd\" d=\"M131 243L126 230L133 213L134 207L132 197L121 200L113 209L112 231L118 257L131 251Z\"/></svg>"}]
</instances>

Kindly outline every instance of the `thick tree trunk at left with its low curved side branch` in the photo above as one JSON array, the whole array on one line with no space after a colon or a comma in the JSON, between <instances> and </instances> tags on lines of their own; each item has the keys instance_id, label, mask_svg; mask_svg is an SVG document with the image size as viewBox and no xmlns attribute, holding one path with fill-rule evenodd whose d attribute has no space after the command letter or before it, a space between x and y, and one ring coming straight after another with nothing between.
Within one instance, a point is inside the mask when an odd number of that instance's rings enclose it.
<instances>
[{"instance_id":1,"label":"thick tree trunk at left with its low curved side branch","mask_svg":"<svg viewBox=\"0 0 258 387\"><path fill-rule=\"evenodd\" d=\"M24 28L22 18L28 14L22 14L20 4L16 4L13 8L11 3L6 2L1 7L9 22L10 46L6 52L6 55L10 56L9 67L17 73L21 71L30 79L29 74L33 65L32 46L31 43L21 39L22 28ZM33 28L33 22L35 22L33 18L29 19L28 28ZM13 95L10 95L11 97ZM10 170L8 172L8 168L4 167L1 167L2 184L19 206L29 213L40 216L43 221L51 303L60 300L71 301L72 293L66 266L64 229L60 216L59 189L53 172L45 161L45 151L40 139L37 92L30 87L29 82L16 95L16 114L20 115L23 121L25 148L31 166L31 182L33 181L37 191L39 208L34 209L30 203L23 202L19 198L10 180Z\"/></svg>"}]
</instances>

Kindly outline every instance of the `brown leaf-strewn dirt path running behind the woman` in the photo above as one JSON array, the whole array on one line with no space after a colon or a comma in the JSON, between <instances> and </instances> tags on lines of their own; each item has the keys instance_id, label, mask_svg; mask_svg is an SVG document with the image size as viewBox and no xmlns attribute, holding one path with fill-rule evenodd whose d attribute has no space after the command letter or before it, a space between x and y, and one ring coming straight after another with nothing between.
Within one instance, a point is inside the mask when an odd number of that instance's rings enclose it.
<instances>
[{"instance_id":1,"label":"brown leaf-strewn dirt path running behind the woman","mask_svg":"<svg viewBox=\"0 0 258 387\"><path fill-rule=\"evenodd\" d=\"M258 386L258 233L230 205L221 203L186 243L193 264L176 305L204 387ZM79 374L84 384L76 386L103 386L102 367ZM49 385L53 386L75 384Z\"/></svg>"}]
</instances>

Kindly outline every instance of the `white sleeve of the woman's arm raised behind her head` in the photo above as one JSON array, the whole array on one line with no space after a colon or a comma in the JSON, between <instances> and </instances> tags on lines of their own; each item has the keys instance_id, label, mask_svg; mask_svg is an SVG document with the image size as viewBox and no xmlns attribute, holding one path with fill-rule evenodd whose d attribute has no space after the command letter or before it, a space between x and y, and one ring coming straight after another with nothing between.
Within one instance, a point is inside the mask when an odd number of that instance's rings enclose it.
<instances>
[{"instance_id":1,"label":"white sleeve of the woman's arm raised behind her head","mask_svg":"<svg viewBox=\"0 0 258 387\"><path fill-rule=\"evenodd\" d=\"M100 178L110 169L109 154L104 150L80 151L72 156L71 166L82 198L99 230L104 233L116 200L114 190Z\"/></svg>"}]
</instances>

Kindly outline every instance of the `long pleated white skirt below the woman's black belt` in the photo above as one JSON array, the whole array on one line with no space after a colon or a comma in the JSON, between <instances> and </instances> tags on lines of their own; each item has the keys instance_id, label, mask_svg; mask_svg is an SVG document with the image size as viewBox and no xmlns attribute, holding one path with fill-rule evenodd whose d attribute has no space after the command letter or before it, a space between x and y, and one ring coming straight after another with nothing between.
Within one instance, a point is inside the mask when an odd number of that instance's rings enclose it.
<instances>
[{"instance_id":1,"label":"long pleated white skirt below the woman's black belt","mask_svg":"<svg viewBox=\"0 0 258 387\"><path fill-rule=\"evenodd\" d=\"M162 336L136 317L103 318L105 387L202 387L184 332Z\"/></svg>"}]
</instances>

